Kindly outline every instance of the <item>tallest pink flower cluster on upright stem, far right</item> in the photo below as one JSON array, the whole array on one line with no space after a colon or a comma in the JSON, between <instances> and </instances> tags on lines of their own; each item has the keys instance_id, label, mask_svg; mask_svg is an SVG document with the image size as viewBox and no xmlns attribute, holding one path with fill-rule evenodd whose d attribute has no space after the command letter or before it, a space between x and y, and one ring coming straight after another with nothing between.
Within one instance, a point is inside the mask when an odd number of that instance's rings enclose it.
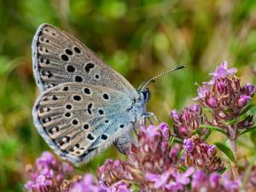
<instances>
[{"instance_id":1,"label":"tallest pink flower cluster on upright stem, far right","mask_svg":"<svg viewBox=\"0 0 256 192\"><path fill-rule=\"evenodd\" d=\"M198 88L198 101L202 106L211 108L214 122L227 130L225 122L240 117L242 109L251 101L255 94L253 84L241 86L240 79L234 74L235 68L227 69L224 61L217 67L210 82L205 82ZM247 115L237 126L244 129L253 125L253 117Z\"/></svg>"}]
</instances>

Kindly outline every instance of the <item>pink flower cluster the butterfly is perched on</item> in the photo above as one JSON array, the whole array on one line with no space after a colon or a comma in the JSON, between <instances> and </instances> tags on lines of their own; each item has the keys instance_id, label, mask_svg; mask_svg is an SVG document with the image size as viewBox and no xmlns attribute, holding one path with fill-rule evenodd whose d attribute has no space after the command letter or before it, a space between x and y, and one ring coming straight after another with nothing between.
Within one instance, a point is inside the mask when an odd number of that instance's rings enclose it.
<instances>
[{"instance_id":1,"label":"pink flower cluster the butterfly is perched on","mask_svg":"<svg viewBox=\"0 0 256 192\"><path fill-rule=\"evenodd\" d=\"M175 183L177 170L174 165L175 149L169 147L170 130L166 124L142 127L137 143L133 143L125 161L107 160L99 168L98 177L108 184L119 180L130 181L140 186L143 191L152 189L169 189L166 185ZM172 177L171 177L172 176ZM162 177L166 181L155 188ZM179 176L178 176L179 177ZM158 179L157 179L158 178ZM179 182L179 181L177 181ZM180 185L181 183L179 183Z\"/></svg>"}]
</instances>

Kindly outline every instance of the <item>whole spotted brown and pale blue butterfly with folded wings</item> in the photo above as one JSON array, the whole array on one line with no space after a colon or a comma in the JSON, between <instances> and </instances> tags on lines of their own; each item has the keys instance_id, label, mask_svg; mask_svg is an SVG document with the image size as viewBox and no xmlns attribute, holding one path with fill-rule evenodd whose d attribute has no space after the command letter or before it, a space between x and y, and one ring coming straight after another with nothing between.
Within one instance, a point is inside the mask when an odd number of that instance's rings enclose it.
<instances>
[{"instance_id":1,"label":"whole spotted brown and pale blue butterfly with folded wings","mask_svg":"<svg viewBox=\"0 0 256 192\"><path fill-rule=\"evenodd\" d=\"M55 26L38 27L32 66L41 90L32 109L34 125L56 154L76 166L111 144L125 153L131 128L153 115L146 104L147 85L154 79L136 90L92 50Z\"/></svg>"}]
</instances>

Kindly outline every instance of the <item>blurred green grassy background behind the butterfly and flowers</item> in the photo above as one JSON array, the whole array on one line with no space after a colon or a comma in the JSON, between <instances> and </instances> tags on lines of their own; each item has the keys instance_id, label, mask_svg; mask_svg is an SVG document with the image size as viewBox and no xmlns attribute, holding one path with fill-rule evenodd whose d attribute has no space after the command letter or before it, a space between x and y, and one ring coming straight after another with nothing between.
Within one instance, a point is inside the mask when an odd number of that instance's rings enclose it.
<instances>
[{"instance_id":1,"label":"blurred green grassy background behind the butterfly and flowers","mask_svg":"<svg viewBox=\"0 0 256 192\"><path fill-rule=\"evenodd\" d=\"M79 38L135 87L186 64L149 86L148 110L166 122L172 108L194 102L195 82L209 80L223 60L242 83L255 83L254 0L0 0L0 191L22 191L24 166L49 149L31 113L38 96L31 44L41 23ZM95 172L117 155L108 149L78 172Z\"/></svg>"}]
</instances>

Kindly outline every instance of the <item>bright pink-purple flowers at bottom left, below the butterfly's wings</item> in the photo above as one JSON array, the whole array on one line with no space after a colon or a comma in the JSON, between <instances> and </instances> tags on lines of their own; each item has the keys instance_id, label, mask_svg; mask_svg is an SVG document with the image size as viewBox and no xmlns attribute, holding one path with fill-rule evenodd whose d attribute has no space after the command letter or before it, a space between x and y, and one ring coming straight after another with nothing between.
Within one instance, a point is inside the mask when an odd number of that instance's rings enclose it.
<instances>
[{"instance_id":1,"label":"bright pink-purple flowers at bottom left, below the butterfly's wings","mask_svg":"<svg viewBox=\"0 0 256 192\"><path fill-rule=\"evenodd\" d=\"M87 173L82 176L75 175L73 166L45 151L34 166L27 165L26 172L30 180L26 182L25 189L32 192L130 192L128 184L119 181L108 184L101 179Z\"/></svg>"}]
</instances>

